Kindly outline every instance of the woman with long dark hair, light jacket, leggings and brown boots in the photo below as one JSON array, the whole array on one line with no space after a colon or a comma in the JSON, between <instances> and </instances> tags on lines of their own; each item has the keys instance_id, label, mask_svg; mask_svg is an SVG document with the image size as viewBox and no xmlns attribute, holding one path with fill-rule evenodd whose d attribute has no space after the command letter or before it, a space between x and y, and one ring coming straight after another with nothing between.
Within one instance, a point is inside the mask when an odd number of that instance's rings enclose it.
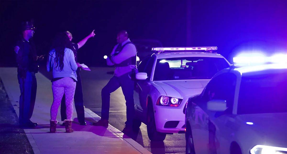
<instances>
[{"instance_id":1,"label":"woman with long dark hair, light jacket, leggings and brown boots","mask_svg":"<svg viewBox=\"0 0 287 154\"><path fill-rule=\"evenodd\" d=\"M65 33L56 36L47 61L47 71L53 71L52 91L53 104L51 106L50 132L56 132L57 112L61 99L65 94L67 119L64 120L66 133L72 133L73 98L77 81L76 70L79 66L75 62L73 51L69 48L70 40Z\"/></svg>"}]
</instances>

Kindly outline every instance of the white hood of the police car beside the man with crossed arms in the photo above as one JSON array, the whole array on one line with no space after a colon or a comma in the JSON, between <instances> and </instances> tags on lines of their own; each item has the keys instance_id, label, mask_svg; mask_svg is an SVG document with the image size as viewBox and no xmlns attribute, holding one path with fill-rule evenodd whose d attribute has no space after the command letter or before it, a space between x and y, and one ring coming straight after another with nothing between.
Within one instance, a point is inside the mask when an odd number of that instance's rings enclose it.
<instances>
[{"instance_id":1,"label":"white hood of the police car beside the man with crossed arms","mask_svg":"<svg viewBox=\"0 0 287 154\"><path fill-rule=\"evenodd\" d=\"M166 96L183 99L186 95L200 94L210 80L170 80L154 81L162 87Z\"/></svg>"}]
</instances>

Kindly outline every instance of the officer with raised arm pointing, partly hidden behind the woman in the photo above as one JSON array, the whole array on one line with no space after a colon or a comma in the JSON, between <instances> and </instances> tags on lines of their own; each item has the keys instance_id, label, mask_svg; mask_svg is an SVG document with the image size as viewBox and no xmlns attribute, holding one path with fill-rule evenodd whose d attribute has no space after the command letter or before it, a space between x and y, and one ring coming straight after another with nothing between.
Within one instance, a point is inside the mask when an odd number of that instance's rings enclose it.
<instances>
[{"instance_id":1,"label":"officer with raised arm pointing, partly hidden behind the woman","mask_svg":"<svg viewBox=\"0 0 287 154\"><path fill-rule=\"evenodd\" d=\"M66 31L65 33L68 35L70 41L72 41L72 38L73 38L72 34L69 31ZM83 40L81 40L77 44L71 42L68 48L70 48L74 52L76 62L78 62L77 61L77 50L81 48L82 46L84 46L84 44L88 41L89 38L94 37L94 36L95 36L95 33L93 30L92 33L90 33L90 35L85 37ZM83 100L80 68L77 69L76 73L77 73L77 85L75 89L74 101L75 101L75 108L77 112L77 118L78 118L80 125L87 125L85 121L84 100ZM67 117L66 117L66 104L65 104L65 95L64 95L61 101L61 120L64 121L65 119L67 119Z\"/></svg>"}]
</instances>

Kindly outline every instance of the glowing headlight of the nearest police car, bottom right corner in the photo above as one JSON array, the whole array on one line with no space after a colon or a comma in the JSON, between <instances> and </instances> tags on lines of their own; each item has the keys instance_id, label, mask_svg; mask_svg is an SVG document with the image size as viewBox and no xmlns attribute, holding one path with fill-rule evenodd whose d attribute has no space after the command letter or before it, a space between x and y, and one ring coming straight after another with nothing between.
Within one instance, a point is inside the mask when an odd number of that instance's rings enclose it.
<instances>
[{"instance_id":1,"label":"glowing headlight of the nearest police car, bottom right corner","mask_svg":"<svg viewBox=\"0 0 287 154\"><path fill-rule=\"evenodd\" d=\"M272 147L267 145L255 145L251 150L251 154L283 154L287 153L287 148Z\"/></svg>"}]
</instances>

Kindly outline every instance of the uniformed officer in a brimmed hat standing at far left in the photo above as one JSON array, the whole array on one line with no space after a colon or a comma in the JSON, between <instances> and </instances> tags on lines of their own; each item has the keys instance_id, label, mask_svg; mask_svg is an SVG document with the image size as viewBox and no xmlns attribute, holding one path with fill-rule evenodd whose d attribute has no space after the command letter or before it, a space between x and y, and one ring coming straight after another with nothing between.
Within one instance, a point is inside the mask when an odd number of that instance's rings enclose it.
<instances>
[{"instance_id":1,"label":"uniformed officer in a brimmed hat standing at far left","mask_svg":"<svg viewBox=\"0 0 287 154\"><path fill-rule=\"evenodd\" d=\"M18 82L20 85L19 121L20 126L35 127L38 124L30 121L32 117L37 91L35 73L38 72L38 60L43 60L43 55L37 56L36 48L31 40L35 27L29 21L22 23L22 38L16 43L16 62L18 66Z\"/></svg>"}]
</instances>

